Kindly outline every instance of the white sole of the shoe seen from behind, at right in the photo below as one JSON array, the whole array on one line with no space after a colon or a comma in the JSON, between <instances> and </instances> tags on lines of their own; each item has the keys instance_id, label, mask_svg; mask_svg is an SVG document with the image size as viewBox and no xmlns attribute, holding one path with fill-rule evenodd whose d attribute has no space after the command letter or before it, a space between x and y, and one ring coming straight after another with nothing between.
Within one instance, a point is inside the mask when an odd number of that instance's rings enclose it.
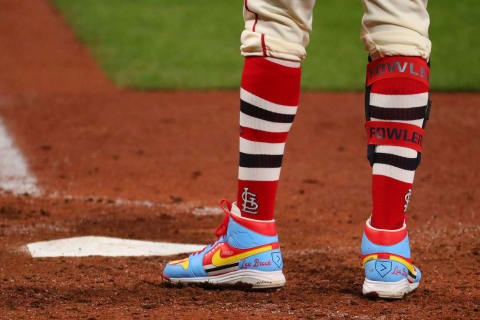
<instances>
[{"instance_id":1,"label":"white sole of the shoe seen from behind, at right","mask_svg":"<svg viewBox=\"0 0 480 320\"><path fill-rule=\"evenodd\" d=\"M410 283L407 279L397 282L373 281L365 279L362 293L365 296L385 299L402 299L406 294L417 289L419 282Z\"/></svg>"}]
</instances>

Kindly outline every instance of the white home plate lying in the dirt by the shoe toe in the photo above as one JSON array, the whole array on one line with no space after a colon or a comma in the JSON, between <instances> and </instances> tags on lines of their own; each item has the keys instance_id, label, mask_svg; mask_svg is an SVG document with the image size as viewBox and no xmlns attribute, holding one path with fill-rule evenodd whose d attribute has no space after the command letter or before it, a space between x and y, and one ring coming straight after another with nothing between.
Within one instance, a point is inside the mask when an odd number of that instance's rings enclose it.
<instances>
[{"instance_id":1,"label":"white home plate lying in the dirt by the shoe toe","mask_svg":"<svg viewBox=\"0 0 480 320\"><path fill-rule=\"evenodd\" d=\"M205 245L83 236L32 242L25 246L33 258L171 256L201 250Z\"/></svg>"}]
</instances>

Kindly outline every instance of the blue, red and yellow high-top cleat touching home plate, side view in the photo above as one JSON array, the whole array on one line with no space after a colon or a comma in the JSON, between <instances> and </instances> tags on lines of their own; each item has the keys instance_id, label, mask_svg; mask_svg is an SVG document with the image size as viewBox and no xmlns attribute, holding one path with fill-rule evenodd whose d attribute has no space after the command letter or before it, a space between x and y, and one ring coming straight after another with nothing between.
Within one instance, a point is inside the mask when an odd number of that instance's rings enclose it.
<instances>
[{"instance_id":1,"label":"blue, red and yellow high-top cleat touching home plate, side view","mask_svg":"<svg viewBox=\"0 0 480 320\"><path fill-rule=\"evenodd\" d=\"M247 286L252 289L282 287L282 254L275 221L244 218L235 203L221 202L223 223L218 240L188 258L169 262L162 278L172 284Z\"/></svg>"}]
</instances>

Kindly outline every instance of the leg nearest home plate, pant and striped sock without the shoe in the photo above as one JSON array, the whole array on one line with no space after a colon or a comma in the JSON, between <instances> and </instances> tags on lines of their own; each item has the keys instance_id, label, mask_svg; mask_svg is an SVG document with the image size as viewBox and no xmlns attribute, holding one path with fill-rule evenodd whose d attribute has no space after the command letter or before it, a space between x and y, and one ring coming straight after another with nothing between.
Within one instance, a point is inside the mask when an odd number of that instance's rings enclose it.
<instances>
[{"instance_id":1,"label":"leg nearest home plate, pant and striped sock without the shoe","mask_svg":"<svg viewBox=\"0 0 480 320\"><path fill-rule=\"evenodd\" d=\"M236 205L251 219L273 219L285 142L298 108L314 1L298 3L245 1Z\"/></svg>"}]
</instances>

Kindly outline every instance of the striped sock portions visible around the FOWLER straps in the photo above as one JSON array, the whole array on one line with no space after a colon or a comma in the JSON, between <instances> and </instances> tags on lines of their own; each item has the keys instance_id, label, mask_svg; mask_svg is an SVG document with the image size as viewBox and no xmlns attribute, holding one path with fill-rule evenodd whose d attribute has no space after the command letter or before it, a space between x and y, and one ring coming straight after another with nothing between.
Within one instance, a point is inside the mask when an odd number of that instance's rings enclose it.
<instances>
[{"instance_id":1,"label":"striped sock portions visible around the FOWLER straps","mask_svg":"<svg viewBox=\"0 0 480 320\"><path fill-rule=\"evenodd\" d=\"M367 92L370 120L423 128L428 90L425 82L412 78L387 78L375 82ZM378 229L399 229L405 221L420 153L393 145L374 148L371 224Z\"/></svg>"}]
</instances>

